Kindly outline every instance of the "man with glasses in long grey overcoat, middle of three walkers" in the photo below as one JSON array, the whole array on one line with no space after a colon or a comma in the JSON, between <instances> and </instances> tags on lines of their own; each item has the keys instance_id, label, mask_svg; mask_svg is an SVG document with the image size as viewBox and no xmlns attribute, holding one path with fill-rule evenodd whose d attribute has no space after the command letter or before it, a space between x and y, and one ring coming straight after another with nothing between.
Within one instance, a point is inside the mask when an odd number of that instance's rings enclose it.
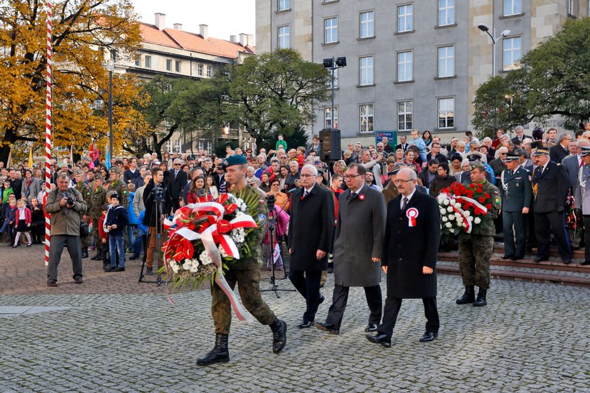
<instances>
[{"instance_id":1,"label":"man with glasses in long grey overcoat, middle of three walkers","mask_svg":"<svg viewBox=\"0 0 590 393\"><path fill-rule=\"evenodd\" d=\"M350 164L344 178L348 189L339 197L334 241L334 294L325 323L315 327L339 334L351 286L365 288L371 310L365 331L377 330L381 322L381 246L385 225L385 201L381 192L365 185L367 169Z\"/></svg>"}]
</instances>

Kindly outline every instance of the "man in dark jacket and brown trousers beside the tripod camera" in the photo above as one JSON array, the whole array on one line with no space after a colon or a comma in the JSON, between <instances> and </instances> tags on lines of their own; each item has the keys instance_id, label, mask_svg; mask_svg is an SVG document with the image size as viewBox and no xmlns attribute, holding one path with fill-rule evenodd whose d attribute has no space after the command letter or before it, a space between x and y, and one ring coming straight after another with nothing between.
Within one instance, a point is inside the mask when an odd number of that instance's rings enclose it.
<instances>
[{"instance_id":1,"label":"man in dark jacket and brown trousers beside the tripod camera","mask_svg":"<svg viewBox=\"0 0 590 393\"><path fill-rule=\"evenodd\" d=\"M164 181L164 171L157 166L152 168L152 180L147 183L143 191L143 204L145 205L144 224L147 227L145 267L147 267L146 274L151 275L154 267L156 238L158 234L164 236L164 232L158 228L162 228L164 217L172 210L172 199L168 185Z\"/></svg>"}]
</instances>

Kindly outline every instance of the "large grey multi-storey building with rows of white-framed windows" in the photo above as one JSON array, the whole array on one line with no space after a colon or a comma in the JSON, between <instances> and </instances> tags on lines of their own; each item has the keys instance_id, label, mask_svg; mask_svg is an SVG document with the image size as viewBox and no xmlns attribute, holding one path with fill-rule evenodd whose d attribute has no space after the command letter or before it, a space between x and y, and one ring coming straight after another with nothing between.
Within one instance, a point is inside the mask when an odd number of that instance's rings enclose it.
<instances>
[{"instance_id":1,"label":"large grey multi-storey building with rows of white-framed windows","mask_svg":"<svg viewBox=\"0 0 590 393\"><path fill-rule=\"evenodd\" d=\"M334 126L346 140L375 131L431 130L443 140L471 128L475 92L492 74L519 66L523 53L568 18L588 15L588 0L256 0L256 48L294 48L336 70ZM331 124L327 103L313 133Z\"/></svg>"}]
</instances>

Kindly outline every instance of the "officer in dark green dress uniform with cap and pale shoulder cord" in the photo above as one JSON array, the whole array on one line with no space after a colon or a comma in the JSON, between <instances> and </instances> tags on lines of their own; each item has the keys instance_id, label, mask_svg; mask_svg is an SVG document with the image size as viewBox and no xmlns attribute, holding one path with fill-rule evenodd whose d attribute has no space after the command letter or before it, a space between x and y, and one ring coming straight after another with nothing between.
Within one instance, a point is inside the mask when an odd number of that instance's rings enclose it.
<instances>
[{"instance_id":1,"label":"officer in dark green dress uniform with cap and pale shoulder cord","mask_svg":"<svg viewBox=\"0 0 590 393\"><path fill-rule=\"evenodd\" d=\"M504 190L502 198L502 218L504 222L504 249L502 259L519 260L525 256L526 218L529 212L532 189L530 172L520 166L520 154L506 154L506 171L500 176ZM512 229L514 227L514 230ZM516 248L514 234L516 232Z\"/></svg>"}]
</instances>

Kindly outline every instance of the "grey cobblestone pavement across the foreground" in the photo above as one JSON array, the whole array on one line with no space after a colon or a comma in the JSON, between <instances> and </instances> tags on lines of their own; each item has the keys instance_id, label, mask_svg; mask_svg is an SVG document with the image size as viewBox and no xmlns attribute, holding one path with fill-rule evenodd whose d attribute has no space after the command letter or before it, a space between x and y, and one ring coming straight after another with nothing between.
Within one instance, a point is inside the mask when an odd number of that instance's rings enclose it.
<instances>
[{"instance_id":1,"label":"grey cobblestone pavement across the foreground","mask_svg":"<svg viewBox=\"0 0 590 393\"><path fill-rule=\"evenodd\" d=\"M12 249L1 251L6 274ZM33 252L21 251L19 263L32 263ZM63 266L60 283L70 281ZM144 285L153 293L93 292L98 276L89 274L51 294L20 288L21 279L14 293L0 281L0 307L37 311L0 315L0 392L590 392L586 288L494 280L488 305L476 308L455 305L460 279L440 275L439 338L418 342L424 309L405 300L391 348L365 339L362 288L350 292L339 336L296 327L304 307L298 293L264 293L289 324L284 351L273 354L267 326L235 322L230 363L202 368L195 360L214 341L207 290L175 295L173 306L154 285ZM70 292L85 286L86 293ZM280 287L291 288L288 280ZM318 320L332 287L330 276Z\"/></svg>"}]
</instances>

